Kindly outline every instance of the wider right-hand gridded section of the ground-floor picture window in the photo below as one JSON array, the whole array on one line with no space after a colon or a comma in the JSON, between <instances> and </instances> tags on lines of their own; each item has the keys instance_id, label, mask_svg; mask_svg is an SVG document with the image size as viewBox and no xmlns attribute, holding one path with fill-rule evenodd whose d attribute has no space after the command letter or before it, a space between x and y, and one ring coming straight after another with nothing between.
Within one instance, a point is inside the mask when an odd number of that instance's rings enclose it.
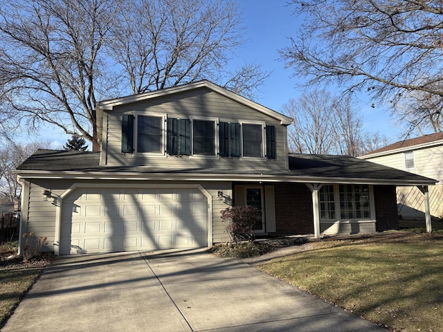
<instances>
[{"instance_id":1,"label":"wider right-hand gridded section of the ground-floor picture window","mask_svg":"<svg viewBox=\"0 0 443 332\"><path fill-rule=\"evenodd\" d=\"M368 185L340 185L341 219L369 219L371 217Z\"/></svg>"}]
</instances>

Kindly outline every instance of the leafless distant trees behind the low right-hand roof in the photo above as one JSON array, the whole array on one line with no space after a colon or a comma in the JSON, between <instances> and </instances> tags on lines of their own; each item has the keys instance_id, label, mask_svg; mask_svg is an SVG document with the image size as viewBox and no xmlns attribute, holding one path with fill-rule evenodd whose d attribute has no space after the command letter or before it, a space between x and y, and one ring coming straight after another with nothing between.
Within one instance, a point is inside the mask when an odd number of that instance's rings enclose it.
<instances>
[{"instance_id":1,"label":"leafless distant trees behind the low right-hand roof","mask_svg":"<svg viewBox=\"0 0 443 332\"><path fill-rule=\"evenodd\" d=\"M289 150L302 154L360 156L387 144L386 136L363 131L361 114L352 98L313 90L289 100L283 112L293 118L288 127Z\"/></svg>"}]
</instances>

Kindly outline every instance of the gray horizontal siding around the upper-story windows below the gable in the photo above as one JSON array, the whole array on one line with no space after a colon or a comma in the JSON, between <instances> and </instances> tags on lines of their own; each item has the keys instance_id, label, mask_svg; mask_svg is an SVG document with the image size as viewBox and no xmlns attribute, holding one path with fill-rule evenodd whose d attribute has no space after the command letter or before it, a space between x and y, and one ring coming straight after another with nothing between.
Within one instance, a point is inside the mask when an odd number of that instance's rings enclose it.
<instances>
[{"instance_id":1,"label":"gray horizontal siding around the upper-story windows below the gable","mask_svg":"<svg viewBox=\"0 0 443 332\"><path fill-rule=\"evenodd\" d=\"M277 158L275 160L254 159L257 169L284 169L287 163L286 127L278 120L254 109L234 102L208 89L198 89L186 93L162 97L161 100L147 100L107 111L105 154L102 163L107 165L150 165L152 167L221 167L251 169L251 159L238 158L189 158L183 156L152 156L146 154L121 154L121 119L125 112L139 111L146 114L168 114L175 118L217 118L222 122L260 121L275 126ZM263 142L266 144L266 142Z\"/></svg>"}]
</instances>

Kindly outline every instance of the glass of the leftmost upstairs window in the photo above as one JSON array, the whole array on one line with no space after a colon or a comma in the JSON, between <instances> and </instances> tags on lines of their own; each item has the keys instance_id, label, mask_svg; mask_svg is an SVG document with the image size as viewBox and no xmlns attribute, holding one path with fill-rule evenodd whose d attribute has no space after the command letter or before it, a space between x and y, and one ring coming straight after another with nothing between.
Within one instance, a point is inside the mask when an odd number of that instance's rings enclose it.
<instances>
[{"instance_id":1,"label":"glass of the leftmost upstairs window","mask_svg":"<svg viewBox=\"0 0 443 332\"><path fill-rule=\"evenodd\" d=\"M161 152L161 121L155 116L138 116L137 152Z\"/></svg>"}]
</instances>

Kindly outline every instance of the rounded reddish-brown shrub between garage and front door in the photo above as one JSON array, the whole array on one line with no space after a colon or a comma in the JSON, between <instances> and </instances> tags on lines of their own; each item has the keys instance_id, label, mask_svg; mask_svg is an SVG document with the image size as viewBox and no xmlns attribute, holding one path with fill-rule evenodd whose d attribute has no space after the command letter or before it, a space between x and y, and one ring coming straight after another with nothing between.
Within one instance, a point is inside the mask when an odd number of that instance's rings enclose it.
<instances>
[{"instance_id":1,"label":"rounded reddish-brown shrub between garage and front door","mask_svg":"<svg viewBox=\"0 0 443 332\"><path fill-rule=\"evenodd\" d=\"M262 212L251 205L234 206L221 211L221 220L227 222L226 232L230 241L254 241L254 229L260 222Z\"/></svg>"}]
</instances>

